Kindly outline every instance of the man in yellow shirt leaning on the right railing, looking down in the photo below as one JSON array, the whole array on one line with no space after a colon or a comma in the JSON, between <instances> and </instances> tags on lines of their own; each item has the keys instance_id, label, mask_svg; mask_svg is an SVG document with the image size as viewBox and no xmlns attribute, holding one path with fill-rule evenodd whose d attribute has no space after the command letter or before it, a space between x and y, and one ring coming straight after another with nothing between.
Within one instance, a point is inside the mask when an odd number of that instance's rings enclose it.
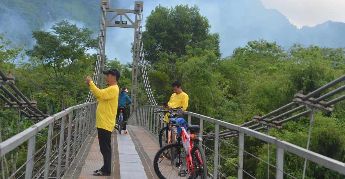
<instances>
[{"instance_id":1,"label":"man in yellow shirt leaning on the right railing, looking down","mask_svg":"<svg viewBox=\"0 0 345 179\"><path fill-rule=\"evenodd\" d=\"M187 93L182 91L182 84L179 81L174 81L171 83L172 91L174 94L170 96L168 106L163 106L166 109L171 109L175 107L182 106L182 110L187 110L189 97ZM169 122L168 114L164 117L165 122Z\"/></svg>"}]
</instances>

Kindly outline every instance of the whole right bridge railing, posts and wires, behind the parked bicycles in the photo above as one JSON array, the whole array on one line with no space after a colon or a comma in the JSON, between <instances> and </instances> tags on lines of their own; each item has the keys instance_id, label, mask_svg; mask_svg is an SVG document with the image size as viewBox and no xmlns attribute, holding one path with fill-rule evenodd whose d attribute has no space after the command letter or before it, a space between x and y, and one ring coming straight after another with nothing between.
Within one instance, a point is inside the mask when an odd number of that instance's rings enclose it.
<instances>
[{"instance_id":1,"label":"whole right bridge railing, posts and wires, behind the parked bicycles","mask_svg":"<svg viewBox=\"0 0 345 179\"><path fill-rule=\"evenodd\" d=\"M128 119L128 125L137 125L141 126L147 131L149 131L151 134L158 137L159 131L162 127L164 127L163 123L163 116L159 116L157 113L153 113L153 111L161 109L161 107L157 106L142 106L137 108L129 117ZM227 178L225 176L225 173L229 170L237 170L237 178L242 179L245 178L255 178L255 173L249 173L248 171L245 171L244 168L246 168L246 163L244 160L245 158L254 158L256 160L259 160L260 162L264 162L265 165L268 165L268 169L266 172L271 173L272 175L275 175L278 179L285 178L299 178L298 176L293 176L292 174L284 171L284 154L294 154L299 156L300 158L307 159L308 161L314 162L316 164L319 164L325 168L328 168L330 170L336 171L342 175L345 175L345 163L334 160L332 158L317 154L316 152L307 150L305 148L296 146L294 144L288 143L286 141L283 141L281 139L278 139L276 137L272 137L263 133L260 133L258 131L241 127L238 125L234 125L231 123L224 122L222 120L214 119L211 117L207 117L204 115L192 113L192 112L185 112L185 116L187 119L188 124L197 124L200 126L199 136L203 135L212 135L214 138L212 140L205 140L201 143L203 146L206 157L208 160L208 169L209 169L209 176L210 178ZM209 123L209 124L207 124ZM210 124L213 124L215 126L214 132L207 133L204 131L203 126ZM221 135L219 133L219 128L222 129L228 129L227 131L231 131L234 134L234 137L237 137L237 141L231 142L228 139L224 139L223 137L219 137ZM267 159L269 156L266 157L258 157L253 154L250 154L250 152L244 150L244 144L245 140L248 140L245 136L254 137L256 140L260 140L262 142L272 144L274 145L272 148L276 148L275 152L275 161L267 162ZM235 145L237 143L237 145ZM232 161L226 156L220 155L219 149L228 149L228 148L234 148L233 151L236 151L234 155L237 155L237 161ZM268 154L271 152L268 152ZM235 157L236 158L236 157ZM274 157L273 157L274 158ZM228 162L230 166L232 165L234 168L231 169L230 167L227 169L220 167L220 160L223 162ZM249 163L247 163L249 165ZM269 172L269 169L275 170L275 172ZM232 172L234 173L234 172ZM234 175L236 175L236 173ZM236 177L236 176L232 176Z\"/></svg>"}]
</instances>

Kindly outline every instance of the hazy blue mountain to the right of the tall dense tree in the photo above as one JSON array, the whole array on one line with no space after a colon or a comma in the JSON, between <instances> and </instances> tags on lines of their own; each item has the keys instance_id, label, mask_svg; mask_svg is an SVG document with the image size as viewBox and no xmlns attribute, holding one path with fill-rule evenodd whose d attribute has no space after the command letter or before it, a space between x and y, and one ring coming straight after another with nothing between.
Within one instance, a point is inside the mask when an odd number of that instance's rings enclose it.
<instances>
[{"instance_id":1,"label":"hazy blue mountain to the right of the tall dense tree","mask_svg":"<svg viewBox=\"0 0 345 179\"><path fill-rule=\"evenodd\" d=\"M219 12L227 13L214 31L220 32L223 56L231 55L236 47L259 38L277 41L286 48L293 43L345 47L345 23L327 21L298 29L279 11L266 9L260 0L230 0L222 5Z\"/></svg>"}]
</instances>

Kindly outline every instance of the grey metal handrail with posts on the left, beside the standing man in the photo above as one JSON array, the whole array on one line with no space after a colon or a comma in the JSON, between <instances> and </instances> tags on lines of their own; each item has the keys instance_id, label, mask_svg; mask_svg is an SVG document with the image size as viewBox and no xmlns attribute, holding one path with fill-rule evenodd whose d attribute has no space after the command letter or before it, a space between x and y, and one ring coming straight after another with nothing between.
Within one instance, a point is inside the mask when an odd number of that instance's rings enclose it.
<instances>
[{"instance_id":1,"label":"grey metal handrail with posts on the left, beside the standing man","mask_svg":"<svg viewBox=\"0 0 345 179\"><path fill-rule=\"evenodd\" d=\"M37 152L35 153L36 148L36 135L44 128L48 128L48 138L47 143L45 144L45 162L41 169L45 168L45 170L39 170L41 172L40 176L44 173L44 178L49 178L53 172L56 172L56 175L63 177L65 172L69 168L69 164L72 164L73 160L76 157L76 153L82 148L81 145L86 141L86 138L91 133L91 130L95 128L95 119L96 119L96 102L89 102L84 103L76 106L69 107L55 115L49 116L46 119L38 122L37 124L29 127L28 129L22 131L21 133L12 136L11 138L3 141L0 143L0 156L1 158L4 157L5 154L10 152L11 150L18 147L20 144L29 140L28 143L28 153L27 153L27 160L26 162L16 170L17 173L21 168L26 166L25 178L32 178L32 176L37 176L37 173L33 173L33 165L34 165L34 158ZM73 113L75 112L75 113ZM75 114L75 119L73 119L73 114ZM54 122L57 120L61 120L60 129L57 131L57 134L52 137L53 133L53 125ZM74 123L72 127L72 123ZM66 124L66 126L65 126ZM74 131L72 131L72 128ZM68 133L66 133L65 129L68 129ZM52 152L52 138L60 136L60 143L58 149ZM67 137L66 137L67 136ZM72 137L73 136L73 137ZM66 137L66 140L64 138ZM42 147L43 148L43 147ZM42 149L41 148L41 149ZM40 149L40 150L41 150ZM70 150L72 150L70 152ZM66 151L63 153L63 151ZM50 156L52 154L53 156ZM55 156L56 155L56 156ZM71 157L72 156L72 157ZM53 158L53 160L51 160ZM63 159L65 159L63 161ZM50 165L54 162L57 162L57 166L50 171ZM65 163L65 168L62 169L62 164ZM3 169L2 169L2 172ZM12 173L11 176L14 175ZM3 177L4 178L4 175ZM59 177L60 178L60 177Z\"/></svg>"}]
</instances>

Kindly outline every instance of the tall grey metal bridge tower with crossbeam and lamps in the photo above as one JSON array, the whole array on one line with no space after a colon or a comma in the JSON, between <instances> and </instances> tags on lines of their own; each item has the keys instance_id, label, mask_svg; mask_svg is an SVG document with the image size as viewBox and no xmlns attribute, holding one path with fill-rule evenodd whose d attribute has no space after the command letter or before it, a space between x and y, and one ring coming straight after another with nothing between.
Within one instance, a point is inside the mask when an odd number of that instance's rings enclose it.
<instances>
[{"instance_id":1,"label":"tall grey metal bridge tower with crossbeam and lamps","mask_svg":"<svg viewBox=\"0 0 345 179\"><path fill-rule=\"evenodd\" d=\"M133 61L132 61L132 84L130 98L132 104L130 105L130 112L133 112L138 107L137 89L138 77L141 70L143 83L145 86L146 94L151 105L157 105L151 87L148 81L146 72L146 62L144 57L144 48L142 43L142 10L144 2L135 1L134 10L129 9L111 9L109 8L110 0L101 0L101 14L100 14L100 31L99 31L99 47L97 52L97 61L95 65L95 72L93 74L93 81L98 88L103 87L103 74L105 59L105 44L107 27L120 27L134 29L134 43L133 43ZM115 15L108 19L108 12L115 12ZM135 14L135 19L130 19L128 13ZM119 17L119 18L118 18ZM125 18L124 18L125 17ZM117 20L115 20L117 18ZM125 20L124 20L125 19ZM140 69L139 69L140 67ZM99 83L98 83L99 80ZM93 95L89 92L86 102L93 100Z\"/></svg>"}]
</instances>

